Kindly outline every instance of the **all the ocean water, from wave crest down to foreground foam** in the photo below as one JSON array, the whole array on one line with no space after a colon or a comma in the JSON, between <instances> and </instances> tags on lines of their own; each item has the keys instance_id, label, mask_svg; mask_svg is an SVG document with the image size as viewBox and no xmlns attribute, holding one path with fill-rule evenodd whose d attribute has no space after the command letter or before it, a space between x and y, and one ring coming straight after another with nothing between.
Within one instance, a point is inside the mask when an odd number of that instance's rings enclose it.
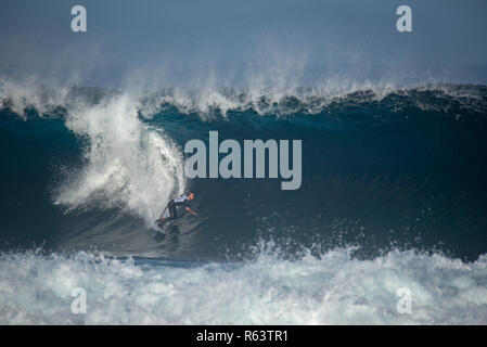
<instances>
[{"instance_id":1,"label":"all the ocean water, from wave crest down to foreground foam","mask_svg":"<svg viewBox=\"0 0 487 347\"><path fill-rule=\"evenodd\" d=\"M2 324L487 323L484 86L0 100ZM187 179L184 143L212 130L302 140L302 187ZM201 217L162 233L188 190Z\"/></svg>"}]
</instances>

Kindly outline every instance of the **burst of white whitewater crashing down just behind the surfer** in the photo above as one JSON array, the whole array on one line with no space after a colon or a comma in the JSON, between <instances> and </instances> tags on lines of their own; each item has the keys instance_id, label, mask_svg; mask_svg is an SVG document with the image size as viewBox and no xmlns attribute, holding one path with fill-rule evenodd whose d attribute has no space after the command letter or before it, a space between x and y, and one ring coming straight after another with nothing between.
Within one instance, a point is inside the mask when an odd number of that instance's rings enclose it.
<instances>
[{"instance_id":1,"label":"burst of white whitewater crashing down just behind the surfer","mask_svg":"<svg viewBox=\"0 0 487 347\"><path fill-rule=\"evenodd\" d=\"M183 191L182 151L164 129L143 124L138 107L126 94L71 106L66 126L88 139L88 164L61 187L56 204L72 209L103 201L104 207L121 205L151 222Z\"/></svg>"}]
</instances>

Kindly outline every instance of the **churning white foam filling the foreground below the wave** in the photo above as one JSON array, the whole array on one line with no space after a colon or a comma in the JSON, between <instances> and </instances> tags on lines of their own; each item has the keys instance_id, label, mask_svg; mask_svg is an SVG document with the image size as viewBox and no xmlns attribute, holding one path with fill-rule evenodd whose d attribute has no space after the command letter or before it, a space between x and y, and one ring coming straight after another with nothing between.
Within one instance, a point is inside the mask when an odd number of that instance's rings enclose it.
<instances>
[{"instance_id":1,"label":"churning white foam filling the foreground below the wave","mask_svg":"<svg viewBox=\"0 0 487 347\"><path fill-rule=\"evenodd\" d=\"M1 324L487 324L487 257L392 252L358 260L272 255L193 267L73 257L0 256ZM87 292L86 314L71 311ZM400 287L411 313L399 313Z\"/></svg>"}]
</instances>

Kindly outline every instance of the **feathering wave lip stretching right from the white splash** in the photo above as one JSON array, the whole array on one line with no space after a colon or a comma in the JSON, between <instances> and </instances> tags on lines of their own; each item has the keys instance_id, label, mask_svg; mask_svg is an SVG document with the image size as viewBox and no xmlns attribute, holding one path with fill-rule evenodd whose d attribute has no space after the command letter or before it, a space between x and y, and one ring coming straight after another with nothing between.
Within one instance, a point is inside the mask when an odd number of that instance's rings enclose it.
<instances>
[{"instance_id":1,"label":"feathering wave lip stretching right from the white splash","mask_svg":"<svg viewBox=\"0 0 487 347\"><path fill-rule=\"evenodd\" d=\"M413 106L420 110L448 112L454 106L487 111L487 89L484 86L418 85L397 87L390 85L345 83L324 85L312 88L213 88L191 90L170 88L163 92L146 93L142 100L154 113L159 107L176 107L183 114L198 114L203 118L214 115L227 116L229 112L252 111L259 115L320 114L348 106L371 105ZM433 108L431 107L433 105Z\"/></svg>"}]
</instances>

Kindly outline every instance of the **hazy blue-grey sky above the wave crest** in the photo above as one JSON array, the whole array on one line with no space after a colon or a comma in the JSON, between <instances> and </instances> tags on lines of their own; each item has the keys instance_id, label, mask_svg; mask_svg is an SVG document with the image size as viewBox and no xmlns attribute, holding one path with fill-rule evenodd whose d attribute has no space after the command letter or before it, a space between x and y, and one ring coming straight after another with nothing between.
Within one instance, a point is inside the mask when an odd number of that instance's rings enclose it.
<instances>
[{"instance_id":1,"label":"hazy blue-grey sky above the wave crest","mask_svg":"<svg viewBox=\"0 0 487 347\"><path fill-rule=\"evenodd\" d=\"M87 33L71 29L76 4ZM396 30L400 4L412 33ZM99 86L248 75L487 83L486 18L485 0L2 0L0 70Z\"/></svg>"}]
</instances>

